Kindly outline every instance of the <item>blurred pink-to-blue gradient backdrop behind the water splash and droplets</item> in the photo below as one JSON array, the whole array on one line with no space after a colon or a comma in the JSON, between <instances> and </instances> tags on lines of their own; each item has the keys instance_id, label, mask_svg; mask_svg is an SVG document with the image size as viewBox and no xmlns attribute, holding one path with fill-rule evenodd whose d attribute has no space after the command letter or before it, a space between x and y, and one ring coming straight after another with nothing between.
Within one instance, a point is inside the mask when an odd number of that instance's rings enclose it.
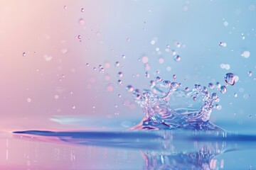
<instances>
[{"instance_id":1,"label":"blurred pink-to-blue gradient backdrop behind the water splash and droplets","mask_svg":"<svg viewBox=\"0 0 256 170\"><path fill-rule=\"evenodd\" d=\"M190 87L225 84L225 73L233 72L239 81L219 93L222 108L211 120L226 130L255 132L255 16L255 1L2 0L1 131L126 130L144 115L125 87L148 88L159 70L163 79L176 74ZM241 56L245 50L250 57ZM150 79L138 61L143 56L149 58ZM98 72L100 64L104 73ZM123 86L117 85L117 72L124 73Z\"/></svg>"}]
</instances>

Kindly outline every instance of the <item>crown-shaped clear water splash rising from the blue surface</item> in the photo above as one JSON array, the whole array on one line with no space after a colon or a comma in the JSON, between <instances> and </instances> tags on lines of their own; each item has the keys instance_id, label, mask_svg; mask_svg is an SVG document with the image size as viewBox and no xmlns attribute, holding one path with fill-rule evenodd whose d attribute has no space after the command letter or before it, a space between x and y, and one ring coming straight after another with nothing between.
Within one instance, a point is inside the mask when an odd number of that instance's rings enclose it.
<instances>
[{"instance_id":1,"label":"crown-shaped clear water splash rising from the blue surface","mask_svg":"<svg viewBox=\"0 0 256 170\"><path fill-rule=\"evenodd\" d=\"M233 85L234 77L234 74L228 73L225 75L225 81ZM145 117L131 130L222 130L209 121L210 113L218 106L215 103L220 99L216 93L210 93L206 86L195 84L194 88L189 90L188 87L183 88L181 84L163 80L161 77L151 80L149 85L151 89L133 91L134 100L142 107ZM214 89L212 83L208 86ZM220 84L217 83L217 86ZM226 86L221 87L220 92L225 94Z\"/></svg>"}]
</instances>

